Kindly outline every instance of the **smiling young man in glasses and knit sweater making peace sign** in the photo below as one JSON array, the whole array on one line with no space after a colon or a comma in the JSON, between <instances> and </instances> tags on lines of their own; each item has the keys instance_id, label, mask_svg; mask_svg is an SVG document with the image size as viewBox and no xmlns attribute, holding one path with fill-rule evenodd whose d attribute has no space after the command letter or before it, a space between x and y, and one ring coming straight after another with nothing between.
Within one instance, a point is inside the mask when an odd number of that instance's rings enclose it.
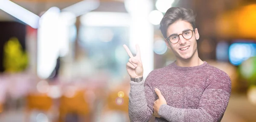
<instances>
[{"instance_id":1,"label":"smiling young man in glasses and knit sweater making peace sign","mask_svg":"<svg viewBox=\"0 0 256 122\"><path fill-rule=\"evenodd\" d=\"M140 49L126 65L131 77L129 117L131 122L220 122L231 94L230 77L198 57L198 29L191 9L166 11L160 30L176 61L154 69L143 79Z\"/></svg>"}]
</instances>

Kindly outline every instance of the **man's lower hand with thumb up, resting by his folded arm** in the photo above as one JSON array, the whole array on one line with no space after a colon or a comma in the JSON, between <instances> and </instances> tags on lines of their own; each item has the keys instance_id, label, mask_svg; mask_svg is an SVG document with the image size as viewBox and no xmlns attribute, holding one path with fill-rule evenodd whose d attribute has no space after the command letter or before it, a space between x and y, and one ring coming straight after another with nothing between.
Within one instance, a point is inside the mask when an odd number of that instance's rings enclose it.
<instances>
[{"instance_id":1,"label":"man's lower hand with thumb up, resting by his folded arm","mask_svg":"<svg viewBox=\"0 0 256 122\"><path fill-rule=\"evenodd\" d=\"M161 105L167 105L165 98L163 97L163 95L161 94L159 89L155 89L155 92L157 93L158 99L154 102L154 116L160 118L161 116L158 115L158 111Z\"/></svg>"}]
</instances>

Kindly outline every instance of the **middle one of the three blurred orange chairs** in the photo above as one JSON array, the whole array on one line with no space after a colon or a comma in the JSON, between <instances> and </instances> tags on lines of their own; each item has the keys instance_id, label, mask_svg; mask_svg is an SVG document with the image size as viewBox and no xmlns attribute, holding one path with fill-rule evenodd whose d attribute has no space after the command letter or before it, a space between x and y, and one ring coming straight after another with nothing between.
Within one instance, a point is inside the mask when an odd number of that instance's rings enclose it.
<instances>
[{"instance_id":1,"label":"middle one of the three blurred orange chairs","mask_svg":"<svg viewBox=\"0 0 256 122\"><path fill-rule=\"evenodd\" d=\"M85 98L84 90L76 90L72 96L61 96L59 122L91 122L92 113ZM68 121L68 116L73 117L73 119Z\"/></svg>"}]
</instances>

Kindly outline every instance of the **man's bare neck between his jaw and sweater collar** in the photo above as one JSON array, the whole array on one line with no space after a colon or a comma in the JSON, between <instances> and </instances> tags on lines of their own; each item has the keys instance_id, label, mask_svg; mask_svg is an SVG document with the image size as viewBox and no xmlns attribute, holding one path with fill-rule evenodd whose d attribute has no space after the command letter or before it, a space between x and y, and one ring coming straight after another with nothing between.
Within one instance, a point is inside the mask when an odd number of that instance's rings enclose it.
<instances>
[{"instance_id":1,"label":"man's bare neck between his jaw and sweater collar","mask_svg":"<svg viewBox=\"0 0 256 122\"><path fill-rule=\"evenodd\" d=\"M195 66L204 64L204 61L202 61L198 57L198 52L196 51L195 54L191 58L185 59L185 60L177 58L175 63L177 66L180 66L180 67L195 67Z\"/></svg>"}]
</instances>

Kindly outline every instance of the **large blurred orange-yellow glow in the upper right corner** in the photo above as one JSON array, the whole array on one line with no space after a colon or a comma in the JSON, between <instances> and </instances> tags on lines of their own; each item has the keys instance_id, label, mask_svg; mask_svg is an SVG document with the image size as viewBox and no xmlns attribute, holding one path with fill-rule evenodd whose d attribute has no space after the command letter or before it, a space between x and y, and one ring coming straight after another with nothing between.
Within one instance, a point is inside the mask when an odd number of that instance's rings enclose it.
<instances>
[{"instance_id":1,"label":"large blurred orange-yellow glow in the upper right corner","mask_svg":"<svg viewBox=\"0 0 256 122\"><path fill-rule=\"evenodd\" d=\"M227 11L216 20L217 33L225 38L256 38L256 4Z\"/></svg>"}]
</instances>

